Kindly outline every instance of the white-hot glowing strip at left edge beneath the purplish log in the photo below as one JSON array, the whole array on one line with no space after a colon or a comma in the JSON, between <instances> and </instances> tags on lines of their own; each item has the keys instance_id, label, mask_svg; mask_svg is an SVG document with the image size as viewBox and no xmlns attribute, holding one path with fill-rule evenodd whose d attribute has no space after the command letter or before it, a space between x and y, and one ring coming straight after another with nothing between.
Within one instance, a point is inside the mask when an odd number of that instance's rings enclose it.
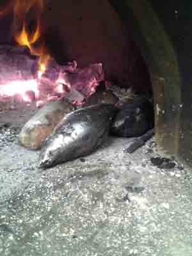
<instances>
[{"instance_id":1,"label":"white-hot glowing strip at left edge beneath the purplish log","mask_svg":"<svg viewBox=\"0 0 192 256\"><path fill-rule=\"evenodd\" d=\"M33 91L35 93L36 99L39 97L38 83L36 82L36 79L27 81L12 81L10 83L0 85L1 97L20 95L24 101L31 102L28 95L29 91Z\"/></svg>"}]
</instances>

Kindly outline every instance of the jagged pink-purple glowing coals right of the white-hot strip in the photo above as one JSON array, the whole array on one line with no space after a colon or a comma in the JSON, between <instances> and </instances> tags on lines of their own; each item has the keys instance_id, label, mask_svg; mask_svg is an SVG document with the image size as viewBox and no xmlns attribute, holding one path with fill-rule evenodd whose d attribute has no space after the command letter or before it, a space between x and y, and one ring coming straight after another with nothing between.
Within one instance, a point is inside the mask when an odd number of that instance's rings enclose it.
<instances>
[{"instance_id":1,"label":"jagged pink-purple glowing coals right of the white-hot strip","mask_svg":"<svg viewBox=\"0 0 192 256\"><path fill-rule=\"evenodd\" d=\"M76 61L61 66L56 61L51 60L44 74L40 77L38 89L40 95L52 95L54 92L59 92L61 96L65 97L65 93L73 89L84 97L88 97L95 92L100 81L104 81L101 63L77 68Z\"/></svg>"}]
</instances>

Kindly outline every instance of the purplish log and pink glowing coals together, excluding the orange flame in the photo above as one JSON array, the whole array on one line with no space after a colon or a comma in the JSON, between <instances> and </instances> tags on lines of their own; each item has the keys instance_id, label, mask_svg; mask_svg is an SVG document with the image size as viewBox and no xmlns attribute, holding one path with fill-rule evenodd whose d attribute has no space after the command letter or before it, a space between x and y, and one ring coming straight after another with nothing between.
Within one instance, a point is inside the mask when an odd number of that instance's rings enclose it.
<instances>
[{"instance_id":1,"label":"purplish log and pink glowing coals together, excluding the orange flame","mask_svg":"<svg viewBox=\"0 0 192 256\"><path fill-rule=\"evenodd\" d=\"M71 95L71 101L79 105L95 92L100 81L104 81L101 63L79 68L76 61L60 65L51 59L44 72L39 69L39 58L31 56L26 47L1 46L0 61L1 99L19 93L22 100L36 100L42 105L50 99L61 99L71 91L73 95L76 91L81 96Z\"/></svg>"}]
</instances>

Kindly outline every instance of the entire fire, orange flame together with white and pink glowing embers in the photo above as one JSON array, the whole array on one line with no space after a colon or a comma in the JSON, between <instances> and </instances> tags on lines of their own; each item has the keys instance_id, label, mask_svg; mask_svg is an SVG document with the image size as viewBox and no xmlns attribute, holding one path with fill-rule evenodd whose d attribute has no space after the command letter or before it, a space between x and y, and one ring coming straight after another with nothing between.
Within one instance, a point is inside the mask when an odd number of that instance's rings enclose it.
<instances>
[{"instance_id":1,"label":"entire fire, orange flame together with white and pink glowing embers","mask_svg":"<svg viewBox=\"0 0 192 256\"><path fill-rule=\"evenodd\" d=\"M6 97L17 99L18 96L19 99L27 102L35 99L36 105L42 106L49 100L70 97L72 102L79 104L78 102L83 102L85 97L94 93L100 81L104 81L101 63L82 69L77 67L76 61L62 67L50 61L51 55L44 36L45 0L9 0L8 3L4 11L0 10L0 15L13 13L12 31L15 41L21 46L28 47L32 55L39 57L38 74L35 79L31 79L33 77L31 74L27 80L22 76L17 78L17 81L7 83L6 79L1 80L3 84L0 84L0 99ZM36 61L36 58L34 59ZM49 62L50 69L47 68ZM47 69L48 72L45 72Z\"/></svg>"}]
</instances>

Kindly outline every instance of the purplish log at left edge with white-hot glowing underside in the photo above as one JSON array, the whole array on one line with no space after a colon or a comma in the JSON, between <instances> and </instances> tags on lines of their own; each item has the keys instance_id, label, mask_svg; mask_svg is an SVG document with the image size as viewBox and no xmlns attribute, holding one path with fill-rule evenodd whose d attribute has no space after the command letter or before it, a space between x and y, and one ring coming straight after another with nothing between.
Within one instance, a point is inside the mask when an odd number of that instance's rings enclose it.
<instances>
[{"instance_id":1,"label":"purplish log at left edge with white-hot glowing underside","mask_svg":"<svg viewBox=\"0 0 192 256\"><path fill-rule=\"evenodd\" d=\"M33 102L38 97L38 58L26 47L0 46L0 100Z\"/></svg>"}]
</instances>

